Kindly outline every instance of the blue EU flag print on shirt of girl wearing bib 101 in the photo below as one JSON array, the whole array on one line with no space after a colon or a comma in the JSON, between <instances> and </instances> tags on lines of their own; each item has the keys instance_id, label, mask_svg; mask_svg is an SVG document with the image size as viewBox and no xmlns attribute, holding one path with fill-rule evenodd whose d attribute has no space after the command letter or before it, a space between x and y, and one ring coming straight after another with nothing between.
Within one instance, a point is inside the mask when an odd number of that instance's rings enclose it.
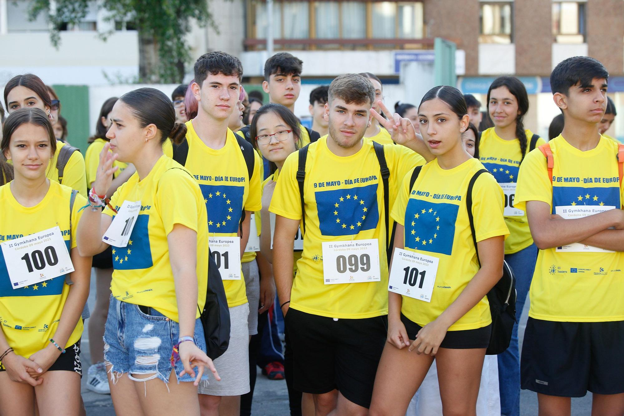
<instances>
[{"instance_id":1,"label":"blue EU flag print on shirt of girl wearing bib 101","mask_svg":"<svg viewBox=\"0 0 624 416\"><path fill-rule=\"evenodd\" d=\"M459 205L410 198L405 211L405 246L451 255Z\"/></svg>"}]
</instances>

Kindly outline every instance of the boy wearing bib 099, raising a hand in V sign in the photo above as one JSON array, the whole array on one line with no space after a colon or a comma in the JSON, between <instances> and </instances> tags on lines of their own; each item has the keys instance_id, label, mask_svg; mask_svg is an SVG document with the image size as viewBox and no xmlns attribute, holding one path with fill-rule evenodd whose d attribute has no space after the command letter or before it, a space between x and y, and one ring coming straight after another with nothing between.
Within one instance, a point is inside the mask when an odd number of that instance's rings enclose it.
<instances>
[{"instance_id":1,"label":"boy wearing bib 099, raising a hand in V sign","mask_svg":"<svg viewBox=\"0 0 624 416\"><path fill-rule=\"evenodd\" d=\"M303 179L298 173L301 150L286 159L269 208L276 214L273 273L293 348L295 389L313 394L316 415L333 409L338 414L368 413L386 342L384 183L381 158L373 142L364 138L374 96L373 84L362 75L345 74L331 82L325 105L329 135L306 148ZM383 105L381 110L388 114ZM424 142L417 140L409 119L400 120L397 130L394 120L385 120L394 141L410 147L383 146L390 204L406 173L424 163L411 150L424 152ZM303 180L303 212L298 178ZM293 279L293 236L301 220L303 253ZM329 281L340 275L336 254L356 255L353 249L333 251L323 244L331 242L371 244L365 245L366 254L370 264L379 265L370 268L376 281L349 283L349 276L344 282Z\"/></svg>"}]
</instances>

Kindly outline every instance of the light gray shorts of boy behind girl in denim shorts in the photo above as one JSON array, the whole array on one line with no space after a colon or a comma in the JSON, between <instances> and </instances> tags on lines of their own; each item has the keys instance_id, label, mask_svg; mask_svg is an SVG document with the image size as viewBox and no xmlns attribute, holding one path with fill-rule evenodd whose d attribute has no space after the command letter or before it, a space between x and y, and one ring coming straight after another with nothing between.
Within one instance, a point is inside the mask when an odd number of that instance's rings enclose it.
<instances>
[{"instance_id":1,"label":"light gray shorts of boy behind girl in denim shorts","mask_svg":"<svg viewBox=\"0 0 624 416\"><path fill-rule=\"evenodd\" d=\"M248 314L247 303L230 307L230 345L227 351L215 360L221 381L215 380L212 372L206 370L208 380L200 382L197 389L199 394L239 396L250 392Z\"/></svg>"}]
</instances>

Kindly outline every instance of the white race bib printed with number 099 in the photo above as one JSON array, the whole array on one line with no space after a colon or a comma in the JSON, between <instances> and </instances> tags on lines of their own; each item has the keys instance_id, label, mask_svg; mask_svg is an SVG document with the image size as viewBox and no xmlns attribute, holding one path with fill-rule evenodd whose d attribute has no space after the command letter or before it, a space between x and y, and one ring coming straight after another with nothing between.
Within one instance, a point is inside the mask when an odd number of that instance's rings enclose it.
<instances>
[{"instance_id":1,"label":"white race bib printed with number 099","mask_svg":"<svg viewBox=\"0 0 624 416\"><path fill-rule=\"evenodd\" d=\"M381 280L379 243L376 238L325 241L322 245L325 284L365 283Z\"/></svg>"}]
</instances>

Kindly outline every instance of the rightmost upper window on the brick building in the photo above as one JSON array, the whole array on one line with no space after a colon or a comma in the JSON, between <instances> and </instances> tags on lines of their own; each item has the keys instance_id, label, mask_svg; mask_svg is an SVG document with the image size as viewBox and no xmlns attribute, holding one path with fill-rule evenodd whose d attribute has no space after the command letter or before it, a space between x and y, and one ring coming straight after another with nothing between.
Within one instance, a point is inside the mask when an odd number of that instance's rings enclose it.
<instances>
[{"instance_id":1,"label":"rightmost upper window on the brick building","mask_svg":"<svg viewBox=\"0 0 624 416\"><path fill-rule=\"evenodd\" d=\"M553 2L552 34L557 43L584 43L585 3L575 1Z\"/></svg>"}]
</instances>

